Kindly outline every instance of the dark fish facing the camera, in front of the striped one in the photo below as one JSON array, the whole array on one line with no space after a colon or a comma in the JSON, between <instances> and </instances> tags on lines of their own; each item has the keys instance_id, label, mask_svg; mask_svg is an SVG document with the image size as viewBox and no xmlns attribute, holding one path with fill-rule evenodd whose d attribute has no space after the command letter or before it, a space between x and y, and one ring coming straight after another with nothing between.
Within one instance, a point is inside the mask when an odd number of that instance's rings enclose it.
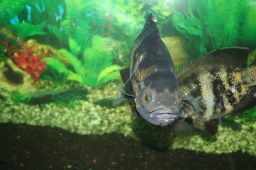
<instances>
[{"instance_id":1,"label":"dark fish facing the camera, in front of the striped one","mask_svg":"<svg viewBox=\"0 0 256 170\"><path fill-rule=\"evenodd\" d=\"M160 38L156 21L150 13L135 40L131 65L120 71L125 90L117 87L121 96L113 105L127 99L133 115L164 127L178 118L181 96L174 62Z\"/></svg>"}]
</instances>

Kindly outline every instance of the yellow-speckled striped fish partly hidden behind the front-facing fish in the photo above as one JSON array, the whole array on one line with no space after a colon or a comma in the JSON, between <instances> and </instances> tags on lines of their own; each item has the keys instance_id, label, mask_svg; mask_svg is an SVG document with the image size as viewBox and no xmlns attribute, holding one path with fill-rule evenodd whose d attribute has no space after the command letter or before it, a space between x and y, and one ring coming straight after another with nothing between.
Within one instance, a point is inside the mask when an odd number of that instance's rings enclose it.
<instances>
[{"instance_id":1,"label":"yellow-speckled striped fish partly hidden behind the front-facing fish","mask_svg":"<svg viewBox=\"0 0 256 170\"><path fill-rule=\"evenodd\" d=\"M176 73L181 96L202 98L198 112L181 103L178 119L170 126L174 133L199 129L215 135L216 118L255 107L256 61L247 66L249 53L246 47L221 48Z\"/></svg>"}]
</instances>

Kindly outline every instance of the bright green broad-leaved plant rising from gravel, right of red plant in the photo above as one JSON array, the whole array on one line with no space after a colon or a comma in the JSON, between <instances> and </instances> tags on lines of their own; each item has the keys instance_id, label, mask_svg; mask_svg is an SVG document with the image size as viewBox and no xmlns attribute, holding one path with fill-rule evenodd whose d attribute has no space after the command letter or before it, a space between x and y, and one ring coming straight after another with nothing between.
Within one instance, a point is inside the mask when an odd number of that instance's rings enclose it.
<instances>
[{"instance_id":1,"label":"bright green broad-leaved plant rising from gravel, right of red plant","mask_svg":"<svg viewBox=\"0 0 256 170\"><path fill-rule=\"evenodd\" d=\"M80 49L75 40L70 40L70 49ZM105 42L99 35L92 37L92 47L87 47L83 53L83 62L66 49L60 50L61 54L68 59L73 70L68 69L65 64L53 57L44 60L50 67L58 72L66 74L67 79L78 81L89 86L98 86L119 77L119 65L112 64L113 56L111 52L105 52ZM76 51L77 52L77 51Z\"/></svg>"}]
</instances>

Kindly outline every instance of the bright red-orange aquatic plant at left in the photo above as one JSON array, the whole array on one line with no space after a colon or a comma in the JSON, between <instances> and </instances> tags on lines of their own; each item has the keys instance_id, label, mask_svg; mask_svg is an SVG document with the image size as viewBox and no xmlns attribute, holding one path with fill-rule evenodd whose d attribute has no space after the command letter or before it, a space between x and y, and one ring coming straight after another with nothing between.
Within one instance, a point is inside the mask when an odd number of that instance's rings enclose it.
<instances>
[{"instance_id":1,"label":"bright red-orange aquatic plant at left","mask_svg":"<svg viewBox=\"0 0 256 170\"><path fill-rule=\"evenodd\" d=\"M44 57L50 57L53 52L49 49L40 49L33 45L28 45L24 42L21 45L21 49L15 47L8 47L8 42L4 42L5 50L11 60L16 66L31 75L35 82L41 83L39 75L44 71L44 67L47 66L46 62L43 62Z\"/></svg>"}]
</instances>

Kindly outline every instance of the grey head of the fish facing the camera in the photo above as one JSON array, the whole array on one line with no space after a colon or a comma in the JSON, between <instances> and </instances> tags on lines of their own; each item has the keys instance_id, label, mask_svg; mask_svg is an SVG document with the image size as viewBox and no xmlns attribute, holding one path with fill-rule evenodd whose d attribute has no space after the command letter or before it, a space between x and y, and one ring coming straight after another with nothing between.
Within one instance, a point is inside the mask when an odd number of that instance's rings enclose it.
<instances>
[{"instance_id":1,"label":"grey head of the fish facing the camera","mask_svg":"<svg viewBox=\"0 0 256 170\"><path fill-rule=\"evenodd\" d=\"M153 125L171 125L178 118L181 103L178 85L166 74L140 81L134 101L139 115Z\"/></svg>"}]
</instances>

